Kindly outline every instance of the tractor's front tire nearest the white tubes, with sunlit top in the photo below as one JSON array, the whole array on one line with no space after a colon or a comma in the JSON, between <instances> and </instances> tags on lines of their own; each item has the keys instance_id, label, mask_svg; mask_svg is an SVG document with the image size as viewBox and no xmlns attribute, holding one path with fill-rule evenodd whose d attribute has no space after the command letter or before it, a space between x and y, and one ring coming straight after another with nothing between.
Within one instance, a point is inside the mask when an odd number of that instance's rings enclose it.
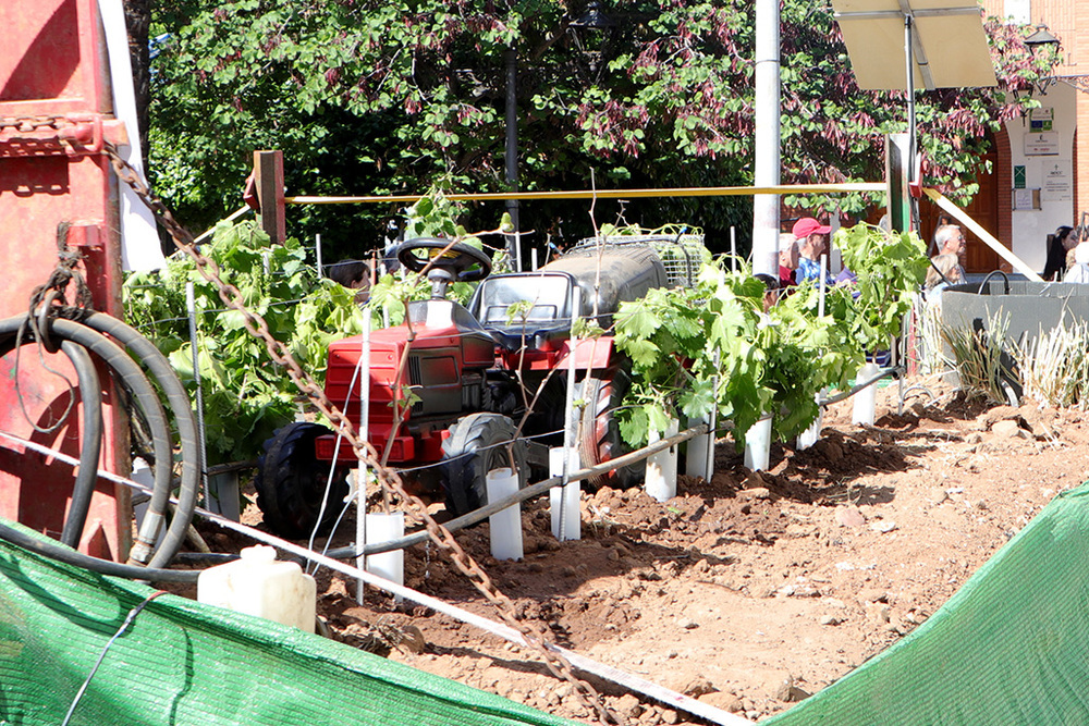
<instances>
[{"instance_id":1,"label":"tractor's front tire nearest the white tubes, with sunlit top","mask_svg":"<svg viewBox=\"0 0 1089 726\"><path fill-rule=\"evenodd\" d=\"M488 504L487 476L493 469L510 468L506 444L517 428L501 414L469 414L450 427L442 442L442 479L446 490L446 509L455 517ZM523 443L513 447L518 471L518 489L526 485L529 469Z\"/></svg>"}]
</instances>

